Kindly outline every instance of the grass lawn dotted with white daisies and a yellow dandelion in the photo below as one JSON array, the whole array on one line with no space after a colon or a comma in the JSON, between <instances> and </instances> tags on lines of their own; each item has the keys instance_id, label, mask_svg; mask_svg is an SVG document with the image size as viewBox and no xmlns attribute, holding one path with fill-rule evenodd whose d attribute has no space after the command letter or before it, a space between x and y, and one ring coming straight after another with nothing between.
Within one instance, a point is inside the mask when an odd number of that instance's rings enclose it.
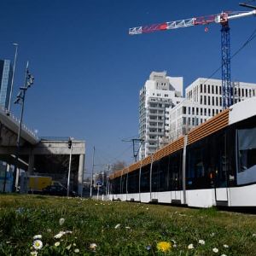
<instances>
[{"instance_id":1,"label":"grass lawn dotted with white daisies and a yellow dandelion","mask_svg":"<svg viewBox=\"0 0 256 256\"><path fill-rule=\"evenodd\" d=\"M0 195L0 255L256 255L256 216Z\"/></svg>"}]
</instances>

